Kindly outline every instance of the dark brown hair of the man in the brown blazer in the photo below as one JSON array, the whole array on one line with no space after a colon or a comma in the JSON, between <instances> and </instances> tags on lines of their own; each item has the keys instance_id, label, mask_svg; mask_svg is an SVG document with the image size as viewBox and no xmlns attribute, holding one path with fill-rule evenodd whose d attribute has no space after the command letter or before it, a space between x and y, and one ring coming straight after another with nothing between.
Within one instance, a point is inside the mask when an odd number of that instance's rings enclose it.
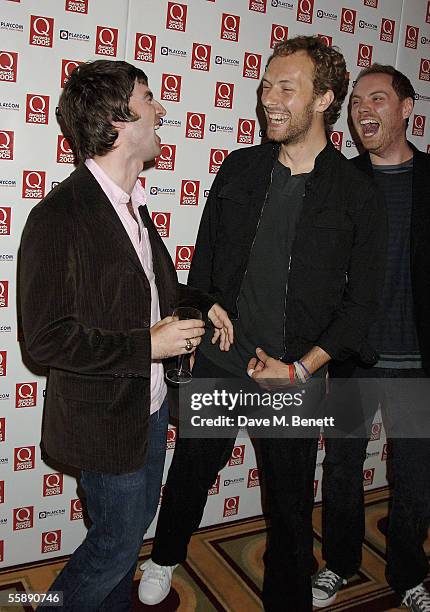
<instances>
[{"instance_id":1,"label":"dark brown hair of the man in the brown blazer","mask_svg":"<svg viewBox=\"0 0 430 612\"><path fill-rule=\"evenodd\" d=\"M113 121L138 119L129 108L136 81L148 84L146 74L127 62L97 60L75 68L60 96L58 119L76 161L113 149Z\"/></svg>"}]
</instances>

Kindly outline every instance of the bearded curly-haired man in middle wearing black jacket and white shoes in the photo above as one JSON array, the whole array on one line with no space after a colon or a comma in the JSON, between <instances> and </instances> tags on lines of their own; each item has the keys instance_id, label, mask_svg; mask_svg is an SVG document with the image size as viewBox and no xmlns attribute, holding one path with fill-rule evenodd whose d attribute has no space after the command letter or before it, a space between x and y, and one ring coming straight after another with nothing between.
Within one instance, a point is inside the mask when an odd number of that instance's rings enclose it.
<instances>
[{"instance_id":1,"label":"bearded curly-haired man in middle wearing black jacket and white shoes","mask_svg":"<svg viewBox=\"0 0 430 612\"><path fill-rule=\"evenodd\" d=\"M322 397L330 358L372 359L365 338L381 283L384 212L370 181L326 136L347 86L343 56L317 37L276 47L262 92L272 142L225 160L199 229L189 282L210 289L235 319L235 343L219 358L204 342L195 376L248 370L288 390L313 375L307 384ZM261 442L271 518L264 606L309 611L317 440ZM168 594L233 445L179 436L140 584L144 603Z\"/></svg>"}]
</instances>

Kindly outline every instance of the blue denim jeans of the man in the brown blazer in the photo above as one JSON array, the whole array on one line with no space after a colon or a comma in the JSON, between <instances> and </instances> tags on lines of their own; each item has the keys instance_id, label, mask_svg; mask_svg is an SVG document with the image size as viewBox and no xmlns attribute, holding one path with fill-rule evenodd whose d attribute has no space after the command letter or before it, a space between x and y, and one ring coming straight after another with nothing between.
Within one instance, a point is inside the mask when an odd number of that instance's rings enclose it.
<instances>
[{"instance_id":1,"label":"blue denim jeans of the man in the brown blazer","mask_svg":"<svg viewBox=\"0 0 430 612\"><path fill-rule=\"evenodd\" d=\"M130 612L139 550L160 496L167 424L165 401L150 417L146 461L137 472L82 472L81 486L92 524L49 589L63 592L63 610Z\"/></svg>"}]
</instances>

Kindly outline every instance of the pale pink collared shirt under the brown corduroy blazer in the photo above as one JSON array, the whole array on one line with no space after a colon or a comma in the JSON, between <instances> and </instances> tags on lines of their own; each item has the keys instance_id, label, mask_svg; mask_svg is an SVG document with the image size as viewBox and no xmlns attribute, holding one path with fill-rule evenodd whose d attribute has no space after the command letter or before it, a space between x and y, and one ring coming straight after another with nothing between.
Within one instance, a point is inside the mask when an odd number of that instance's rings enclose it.
<instances>
[{"instance_id":1,"label":"pale pink collared shirt under the brown corduroy blazer","mask_svg":"<svg viewBox=\"0 0 430 612\"><path fill-rule=\"evenodd\" d=\"M158 299L157 285L155 284L155 275L152 268L152 250L149 242L148 230L143 225L140 218L138 208L146 205L146 193L140 181L136 181L131 196L119 187L113 180L104 172L104 170L93 159L87 159L85 165L94 176L100 187L103 189L108 200L112 204L124 226L128 237L136 251L142 268L146 274L149 285L151 287L151 326L160 320L160 302ZM131 199L133 211L138 220L137 223L130 215L127 209L127 202ZM139 225L138 225L139 224ZM139 239L140 229L140 239ZM164 398L166 397L167 387L164 382L164 370L161 361L152 360L151 363L151 408L150 412L156 412Z\"/></svg>"}]
</instances>

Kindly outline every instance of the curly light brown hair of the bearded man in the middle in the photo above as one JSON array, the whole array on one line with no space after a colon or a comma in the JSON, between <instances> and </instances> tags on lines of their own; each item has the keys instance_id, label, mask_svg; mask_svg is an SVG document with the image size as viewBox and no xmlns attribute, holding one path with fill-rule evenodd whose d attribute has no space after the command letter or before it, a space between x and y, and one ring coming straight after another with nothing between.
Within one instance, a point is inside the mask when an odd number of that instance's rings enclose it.
<instances>
[{"instance_id":1,"label":"curly light brown hair of the bearded man in the middle","mask_svg":"<svg viewBox=\"0 0 430 612\"><path fill-rule=\"evenodd\" d=\"M349 77L345 59L337 47L328 47L318 36L296 36L279 42L270 57L292 55L305 51L314 64L314 94L325 94L329 89L334 93L334 100L324 111L326 129L336 123L342 103L348 91Z\"/></svg>"}]
</instances>

